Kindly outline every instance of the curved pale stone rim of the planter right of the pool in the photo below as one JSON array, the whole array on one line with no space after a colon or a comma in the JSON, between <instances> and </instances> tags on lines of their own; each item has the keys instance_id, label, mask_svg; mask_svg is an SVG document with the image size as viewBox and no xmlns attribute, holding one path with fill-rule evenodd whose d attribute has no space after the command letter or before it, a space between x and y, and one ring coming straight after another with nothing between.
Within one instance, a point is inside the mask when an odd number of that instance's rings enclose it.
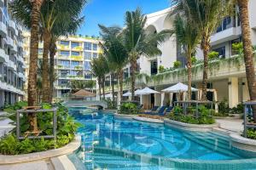
<instances>
[{"instance_id":1,"label":"curved pale stone rim of the planter right of the pool","mask_svg":"<svg viewBox=\"0 0 256 170\"><path fill-rule=\"evenodd\" d=\"M189 124L185 122L172 121L170 119L164 119L164 123L169 127L176 127L182 130L197 131L197 132L211 132L212 128L218 127L218 123L206 125L206 124Z\"/></svg>"}]
</instances>

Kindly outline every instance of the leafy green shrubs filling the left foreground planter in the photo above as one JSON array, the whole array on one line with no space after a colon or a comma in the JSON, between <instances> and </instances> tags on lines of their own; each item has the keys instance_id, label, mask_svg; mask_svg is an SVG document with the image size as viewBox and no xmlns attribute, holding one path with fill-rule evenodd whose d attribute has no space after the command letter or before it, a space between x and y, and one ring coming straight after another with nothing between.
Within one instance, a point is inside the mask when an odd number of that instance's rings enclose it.
<instances>
[{"instance_id":1,"label":"leafy green shrubs filling the left foreground planter","mask_svg":"<svg viewBox=\"0 0 256 170\"><path fill-rule=\"evenodd\" d=\"M16 104L15 104L16 105ZM69 142L71 142L80 126L79 123L73 120L72 116L68 115L67 107L61 104L49 105L42 104L43 109L50 109L52 107L58 107L57 110L57 139L23 139L18 140L14 133L10 133L0 140L0 152L4 155L16 155L16 154L26 154L37 151L51 150L54 148L60 148ZM15 112L20 107L9 106L12 108L10 112ZM15 109L14 109L15 108ZM12 116L13 120L16 121L15 116ZM53 124L52 118L53 114L43 114L38 113L38 128L43 131L40 135L51 135ZM29 125L27 123L27 116L24 114L20 116L20 133L24 135L26 131L29 130Z\"/></svg>"}]
</instances>

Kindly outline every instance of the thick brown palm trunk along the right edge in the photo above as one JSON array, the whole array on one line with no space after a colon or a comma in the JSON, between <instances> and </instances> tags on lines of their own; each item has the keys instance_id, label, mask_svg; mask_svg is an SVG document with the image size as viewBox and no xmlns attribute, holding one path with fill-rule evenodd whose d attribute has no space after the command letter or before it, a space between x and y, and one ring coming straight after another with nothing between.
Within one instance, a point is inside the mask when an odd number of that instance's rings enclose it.
<instances>
[{"instance_id":1,"label":"thick brown palm trunk along the right edge","mask_svg":"<svg viewBox=\"0 0 256 170\"><path fill-rule=\"evenodd\" d=\"M248 19L248 1L238 0L239 12L241 17L241 37L243 44L244 62L247 74L247 84L250 99L256 99L256 81L253 62L253 48L251 41L251 30ZM256 107L253 106L253 121L256 122Z\"/></svg>"}]
</instances>

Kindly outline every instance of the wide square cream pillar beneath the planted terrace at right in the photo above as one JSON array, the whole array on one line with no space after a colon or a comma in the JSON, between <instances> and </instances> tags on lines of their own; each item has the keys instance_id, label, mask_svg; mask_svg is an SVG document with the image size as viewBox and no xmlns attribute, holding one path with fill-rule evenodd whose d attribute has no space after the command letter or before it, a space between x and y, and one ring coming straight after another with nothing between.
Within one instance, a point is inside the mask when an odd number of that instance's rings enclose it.
<instances>
[{"instance_id":1,"label":"wide square cream pillar beneath the planted terrace at right","mask_svg":"<svg viewBox=\"0 0 256 170\"><path fill-rule=\"evenodd\" d=\"M230 108L236 107L238 105L238 78L229 78L229 106Z\"/></svg>"}]
</instances>

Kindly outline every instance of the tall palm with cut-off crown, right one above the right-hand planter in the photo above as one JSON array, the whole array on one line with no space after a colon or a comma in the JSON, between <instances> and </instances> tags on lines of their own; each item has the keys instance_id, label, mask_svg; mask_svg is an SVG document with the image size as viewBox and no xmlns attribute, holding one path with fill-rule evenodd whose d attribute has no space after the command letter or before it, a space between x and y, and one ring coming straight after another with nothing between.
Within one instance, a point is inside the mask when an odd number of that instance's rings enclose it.
<instances>
[{"instance_id":1,"label":"tall palm with cut-off crown, right one above the right-hand planter","mask_svg":"<svg viewBox=\"0 0 256 170\"><path fill-rule=\"evenodd\" d=\"M177 0L177 11L183 11L201 33L201 49L204 55L202 79L202 100L207 99L208 54L211 48L211 36L222 20L233 9L233 0Z\"/></svg>"}]
</instances>

